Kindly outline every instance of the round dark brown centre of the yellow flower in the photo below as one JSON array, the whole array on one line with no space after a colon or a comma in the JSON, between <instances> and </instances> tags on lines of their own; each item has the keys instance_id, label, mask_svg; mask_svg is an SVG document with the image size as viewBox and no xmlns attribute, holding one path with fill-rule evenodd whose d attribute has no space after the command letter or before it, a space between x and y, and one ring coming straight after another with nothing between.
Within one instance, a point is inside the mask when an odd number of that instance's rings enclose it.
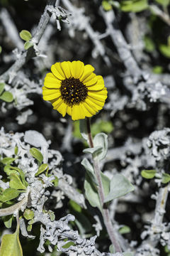
<instances>
[{"instance_id":1,"label":"round dark brown centre of the yellow flower","mask_svg":"<svg viewBox=\"0 0 170 256\"><path fill-rule=\"evenodd\" d=\"M87 97L87 87L80 82L77 78L66 78L62 80L60 92L62 100L69 105L79 105L80 102L84 102Z\"/></svg>"}]
</instances>

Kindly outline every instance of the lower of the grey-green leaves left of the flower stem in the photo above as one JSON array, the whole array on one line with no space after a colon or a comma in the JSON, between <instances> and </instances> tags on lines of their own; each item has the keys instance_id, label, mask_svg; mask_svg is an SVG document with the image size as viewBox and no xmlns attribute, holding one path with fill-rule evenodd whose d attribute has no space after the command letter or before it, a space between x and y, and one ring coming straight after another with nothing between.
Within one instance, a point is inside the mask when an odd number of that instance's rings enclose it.
<instances>
[{"instance_id":1,"label":"lower of the grey-green leaves left of the flower stem","mask_svg":"<svg viewBox=\"0 0 170 256\"><path fill-rule=\"evenodd\" d=\"M91 182L91 179L87 174L85 176L84 189L86 198L91 206L97 207L99 210L101 210L101 203L98 197L98 193L96 191L96 186L94 186L94 183Z\"/></svg>"}]
</instances>

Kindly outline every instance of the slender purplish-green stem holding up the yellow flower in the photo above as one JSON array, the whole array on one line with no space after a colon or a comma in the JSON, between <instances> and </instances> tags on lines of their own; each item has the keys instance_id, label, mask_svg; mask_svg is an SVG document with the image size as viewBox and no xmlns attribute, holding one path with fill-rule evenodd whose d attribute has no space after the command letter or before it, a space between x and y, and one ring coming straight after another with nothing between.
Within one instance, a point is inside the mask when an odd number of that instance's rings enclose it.
<instances>
[{"instance_id":1,"label":"slender purplish-green stem holding up the yellow flower","mask_svg":"<svg viewBox=\"0 0 170 256\"><path fill-rule=\"evenodd\" d=\"M87 127L87 133L88 133L88 137L89 137L89 146L91 148L93 148L94 143L93 143L93 138L91 136L91 125L90 125L89 117L86 118L86 127ZM95 173L96 179L98 181L98 196L100 198L101 207L103 209L102 210L103 220L106 225L106 229L108 231L109 238L111 239L111 242L112 242L113 246L115 247L115 251L122 252L120 245L115 238L115 232L113 229L113 225L111 223L111 218L109 215L108 208L106 207L106 204L104 203L104 190L103 190L103 184L101 181L101 170L99 167L98 159L95 159L95 158L94 158L94 173Z\"/></svg>"}]
</instances>

